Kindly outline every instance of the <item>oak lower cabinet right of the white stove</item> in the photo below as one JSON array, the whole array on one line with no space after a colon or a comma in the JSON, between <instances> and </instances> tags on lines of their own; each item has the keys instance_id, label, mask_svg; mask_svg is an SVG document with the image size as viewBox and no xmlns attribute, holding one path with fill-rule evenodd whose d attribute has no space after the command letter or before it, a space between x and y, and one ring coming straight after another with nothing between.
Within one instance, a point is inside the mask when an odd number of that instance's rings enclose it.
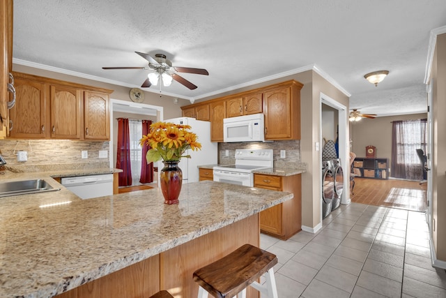
<instances>
[{"instance_id":1,"label":"oak lower cabinet right of the white stove","mask_svg":"<svg viewBox=\"0 0 446 298\"><path fill-rule=\"evenodd\" d=\"M260 229L279 239L289 239L302 230L302 175L254 174L254 187L288 191L294 198L260 213Z\"/></svg>"}]
</instances>

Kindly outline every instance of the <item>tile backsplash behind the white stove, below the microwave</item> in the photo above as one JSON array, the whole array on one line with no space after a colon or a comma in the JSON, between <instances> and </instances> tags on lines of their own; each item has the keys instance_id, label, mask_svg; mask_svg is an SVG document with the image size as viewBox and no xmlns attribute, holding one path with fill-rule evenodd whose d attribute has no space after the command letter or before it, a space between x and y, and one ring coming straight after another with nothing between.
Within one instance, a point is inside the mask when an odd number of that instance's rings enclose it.
<instances>
[{"instance_id":1,"label":"tile backsplash behind the white stove, below the microwave","mask_svg":"<svg viewBox=\"0 0 446 298\"><path fill-rule=\"evenodd\" d=\"M300 160L300 140L275 142L236 142L218 144L218 163L230 165L235 163L236 149L272 149L275 167L298 168L306 167ZM226 156L226 150L228 156ZM285 150L285 158L280 158L280 150Z\"/></svg>"}]
</instances>

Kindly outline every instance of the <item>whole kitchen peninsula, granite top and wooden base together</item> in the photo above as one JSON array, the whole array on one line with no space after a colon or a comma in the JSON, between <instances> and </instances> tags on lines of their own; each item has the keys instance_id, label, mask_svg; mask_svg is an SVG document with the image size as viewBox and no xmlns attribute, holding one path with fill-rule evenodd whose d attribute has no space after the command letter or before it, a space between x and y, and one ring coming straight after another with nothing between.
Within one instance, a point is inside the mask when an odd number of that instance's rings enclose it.
<instances>
[{"instance_id":1,"label":"whole kitchen peninsula, granite top and wooden base together","mask_svg":"<svg viewBox=\"0 0 446 298\"><path fill-rule=\"evenodd\" d=\"M80 200L61 191L0 199L0 297L196 297L192 272L259 246L259 212L291 193L214 181Z\"/></svg>"}]
</instances>

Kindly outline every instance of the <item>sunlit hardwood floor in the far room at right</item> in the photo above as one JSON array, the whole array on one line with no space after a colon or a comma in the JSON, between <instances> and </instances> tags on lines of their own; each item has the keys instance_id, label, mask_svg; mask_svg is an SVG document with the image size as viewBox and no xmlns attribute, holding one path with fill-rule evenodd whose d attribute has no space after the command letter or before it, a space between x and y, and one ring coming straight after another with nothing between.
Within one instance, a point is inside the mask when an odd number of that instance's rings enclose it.
<instances>
[{"instance_id":1,"label":"sunlit hardwood floor in the far room at right","mask_svg":"<svg viewBox=\"0 0 446 298\"><path fill-rule=\"evenodd\" d=\"M419 181L380 180L355 177L351 201L426 212L426 184Z\"/></svg>"}]
</instances>

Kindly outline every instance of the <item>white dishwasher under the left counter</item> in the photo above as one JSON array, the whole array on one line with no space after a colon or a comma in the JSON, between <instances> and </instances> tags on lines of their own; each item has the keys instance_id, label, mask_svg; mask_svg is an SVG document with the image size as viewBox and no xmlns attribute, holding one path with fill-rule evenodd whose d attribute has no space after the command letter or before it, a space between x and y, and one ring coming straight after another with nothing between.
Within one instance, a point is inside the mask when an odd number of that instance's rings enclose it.
<instances>
[{"instance_id":1,"label":"white dishwasher under the left counter","mask_svg":"<svg viewBox=\"0 0 446 298\"><path fill-rule=\"evenodd\" d=\"M66 177L61 184L82 199L113 195L113 174Z\"/></svg>"}]
</instances>

